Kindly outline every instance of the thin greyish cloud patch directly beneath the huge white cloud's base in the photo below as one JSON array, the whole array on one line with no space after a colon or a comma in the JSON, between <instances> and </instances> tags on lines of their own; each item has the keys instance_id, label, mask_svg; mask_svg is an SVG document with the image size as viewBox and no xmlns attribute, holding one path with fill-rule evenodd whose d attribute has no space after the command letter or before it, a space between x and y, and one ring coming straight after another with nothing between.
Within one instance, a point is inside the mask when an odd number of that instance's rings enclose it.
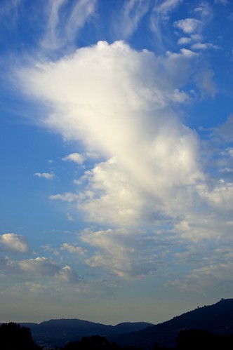
<instances>
[{"instance_id":1,"label":"thin greyish cloud patch directly beneath the huge white cloud's base","mask_svg":"<svg viewBox=\"0 0 233 350\"><path fill-rule=\"evenodd\" d=\"M106 231L87 230L81 235L81 240L96 248L92 257L86 260L91 267L104 267L122 278L145 276L156 271L156 260L148 247L143 246L139 239L140 232L127 229L108 229ZM147 250L147 255L142 250ZM145 252L144 252L145 253Z\"/></svg>"}]
</instances>

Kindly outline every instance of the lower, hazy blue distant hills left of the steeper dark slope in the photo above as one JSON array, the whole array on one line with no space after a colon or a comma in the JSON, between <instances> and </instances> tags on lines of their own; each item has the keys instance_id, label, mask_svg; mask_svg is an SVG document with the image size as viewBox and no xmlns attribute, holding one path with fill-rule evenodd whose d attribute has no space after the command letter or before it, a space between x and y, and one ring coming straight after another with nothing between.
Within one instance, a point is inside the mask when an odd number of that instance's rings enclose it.
<instances>
[{"instance_id":1,"label":"lower, hazy blue distant hills left of the steeper dark slope","mask_svg":"<svg viewBox=\"0 0 233 350\"><path fill-rule=\"evenodd\" d=\"M67 342L80 340L91 335L113 336L136 332L152 326L147 322L126 322L118 325L103 325L90 321L74 319L60 319L44 321L42 323L20 323L30 328L32 337L37 344L46 346L64 346Z\"/></svg>"}]
</instances>

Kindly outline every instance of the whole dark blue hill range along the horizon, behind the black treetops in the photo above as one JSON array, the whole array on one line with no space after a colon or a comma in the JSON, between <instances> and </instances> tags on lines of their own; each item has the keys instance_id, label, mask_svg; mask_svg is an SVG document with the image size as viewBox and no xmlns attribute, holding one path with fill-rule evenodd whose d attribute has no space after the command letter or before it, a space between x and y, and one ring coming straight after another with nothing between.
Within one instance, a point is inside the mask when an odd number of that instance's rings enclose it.
<instances>
[{"instance_id":1,"label":"whole dark blue hill range along the horizon, behind the black treetops","mask_svg":"<svg viewBox=\"0 0 233 350\"><path fill-rule=\"evenodd\" d=\"M117 343L120 346L134 346L145 350L159 349L159 346L171 348L177 346L176 339L181 339L182 342L185 337L194 339L207 337L210 344L212 341L222 342L223 338L220 336L233 335L233 299L221 299L216 304L198 307L157 325L127 322L113 326L79 319L60 319L39 324L20 323L20 327L31 330L36 344L53 348L61 348L69 342L79 342L81 346L81 339L91 336L105 337L111 344ZM200 333L201 330L204 332ZM233 337L226 339L232 342ZM157 347L154 344L157 344ZM107 346L107 343L105 345Z\"/></svg>"}]
</instances>

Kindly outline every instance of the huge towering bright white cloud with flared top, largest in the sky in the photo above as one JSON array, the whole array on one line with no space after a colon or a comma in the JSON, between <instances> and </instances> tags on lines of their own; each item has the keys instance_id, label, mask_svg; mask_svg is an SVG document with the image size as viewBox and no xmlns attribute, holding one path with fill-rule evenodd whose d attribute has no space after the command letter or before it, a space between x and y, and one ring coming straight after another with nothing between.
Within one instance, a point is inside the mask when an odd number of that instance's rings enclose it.
<instances>
[{"instance_id":1,"label":"huge towering bright white cloud with flared top, largest in the sky","mask_svg":"<svg viewBox=\"0 0 233 350\"><path fill-rule=\"evenodd\" d=\"M84 191L50 198L73 201L90 220L114 224L138 221L151 205L150 213L180 208L175 201L203 175L197 134L182 125L171 106L187 101L180 87L197 57L182 48L157 58L122 41L100 41L58 62L23 70L24 86L54 107L46 124L106 159L86 172Z\"/></svg>"}]
</instances>

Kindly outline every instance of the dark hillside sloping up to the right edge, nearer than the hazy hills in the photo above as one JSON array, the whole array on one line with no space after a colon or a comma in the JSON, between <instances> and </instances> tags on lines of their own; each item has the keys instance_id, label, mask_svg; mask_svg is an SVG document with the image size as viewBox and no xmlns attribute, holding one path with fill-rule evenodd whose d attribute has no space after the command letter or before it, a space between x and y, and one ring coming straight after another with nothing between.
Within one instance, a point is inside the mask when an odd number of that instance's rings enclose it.
<instances>
[{"instance_id":1,"label":"dark hillside sloping up to the right edge, nearer than the hazy hills","mask_svg":"<svg viewBox=\"0 0 233 350\"><path fill-rule=\"evenodd\" d=\"M233 299L221 299L216 304L198 307L170 321L152 325L151 327L125 335L108 337L121 346L138 346L152 349L154 344L175 346L175 338L180 330L209 330L215 334L233 334Z\"/></svg>"}]
</instances>

